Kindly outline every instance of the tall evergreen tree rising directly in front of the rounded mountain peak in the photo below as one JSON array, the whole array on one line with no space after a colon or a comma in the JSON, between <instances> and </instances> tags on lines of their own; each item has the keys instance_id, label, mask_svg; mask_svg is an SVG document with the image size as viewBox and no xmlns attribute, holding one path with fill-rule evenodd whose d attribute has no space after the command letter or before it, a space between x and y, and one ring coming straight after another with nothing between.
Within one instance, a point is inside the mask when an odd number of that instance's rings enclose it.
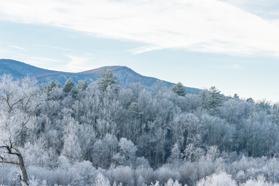
<instances>
[{"instance_id":1,"label":"tall evergreen tree rising directly in front of the rounded mountain peak","mask_svg":"<svg viewBox=\"0 0 279 186\"><path fill-rule=\"evenodd\" d=\"M116 85L119 83L117 76L113 76L113 71L108 70L108 67L103 67L101 73L97 75L101 78L98 80L99 88L101 91L105 92L106 88L111 85Z\"/></svg>"}]
</instances>

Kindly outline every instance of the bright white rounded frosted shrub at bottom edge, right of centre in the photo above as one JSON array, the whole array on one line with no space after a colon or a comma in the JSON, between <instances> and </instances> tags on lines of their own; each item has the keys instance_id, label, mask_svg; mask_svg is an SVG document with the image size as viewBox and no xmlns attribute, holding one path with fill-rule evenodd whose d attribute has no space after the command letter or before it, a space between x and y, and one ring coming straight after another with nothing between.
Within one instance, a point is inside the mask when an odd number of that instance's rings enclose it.
<instances>
[{"instance_id":1,"label":"bright white rounded frosted shrub at bottom edge, right of centre","mask_svg":"<svg viewBox=\"0 0 279 186\"><path fill-rule=\"evenodd\" d=\"M231 179L225 172L221 172L219 174L213 174L211 176L207 176L206 178L202 178L196 184L196 186L237 186L236 181Z\"/></svg>"}]
</instances>

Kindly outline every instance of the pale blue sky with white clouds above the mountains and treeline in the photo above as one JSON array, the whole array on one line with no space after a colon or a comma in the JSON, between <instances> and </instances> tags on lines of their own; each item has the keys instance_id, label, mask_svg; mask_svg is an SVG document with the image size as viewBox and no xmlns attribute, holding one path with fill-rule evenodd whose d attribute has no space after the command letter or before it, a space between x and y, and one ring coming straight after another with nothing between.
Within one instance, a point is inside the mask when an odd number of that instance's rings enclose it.
<instances>
[{"instance_id":1,"label":"pale blue sky with white clouds above the mountains and treeline","mask_svg":"<svg viewBox=\"0 0 279 186\"><path fill-rule=\"evenodd\" d=\"M279 101L278 0L0 0L0 59L57 71L127 66Z\"/></svg>"}]
</instances>

